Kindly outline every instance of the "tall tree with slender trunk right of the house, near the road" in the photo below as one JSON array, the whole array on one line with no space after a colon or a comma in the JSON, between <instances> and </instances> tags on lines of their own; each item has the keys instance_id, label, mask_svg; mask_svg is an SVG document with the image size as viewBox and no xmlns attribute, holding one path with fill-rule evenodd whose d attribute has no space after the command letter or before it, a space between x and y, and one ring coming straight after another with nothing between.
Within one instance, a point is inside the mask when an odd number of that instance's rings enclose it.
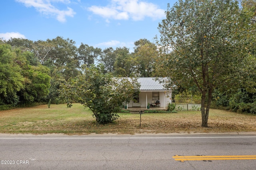
<instances>
[{"instance_id":1,"label":"tall tree with slender trunk right of the house, near the road","mask_svg":"<svg viewBox=\"0 0 256 170\"><path fill-rule=\"evenodd\" d=\"M168 5L166 19L159 24L162 73L178 87L198 87L202 127L208 127L215 88L243 82L255 90L247 77L255 65L252 17L235 0L179 0L172 8Z\"/></svg>"}]
</instances>

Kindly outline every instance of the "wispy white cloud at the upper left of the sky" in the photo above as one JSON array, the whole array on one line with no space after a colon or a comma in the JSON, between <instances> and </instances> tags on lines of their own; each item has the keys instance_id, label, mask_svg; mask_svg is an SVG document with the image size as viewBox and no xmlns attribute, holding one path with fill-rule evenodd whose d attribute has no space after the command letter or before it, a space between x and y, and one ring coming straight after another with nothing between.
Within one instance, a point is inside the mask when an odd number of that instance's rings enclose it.
<instances>
[{"instance_id":1,"label":"wispy white cloud at the upper left of the sky","mask_svg":"<svg viewBox=\"0 0 256 170\"><path fill-rule=\"evenodd\" d=\"M44 15L56 17L59 22L66 22L66 16L73 17L76 12L72 8L67 7L67 10L59 10L51 4L51 2L60 2L64 4L70 3L69 0L16 0L24 4L26 7L34 7Z\"/></svg>"}]
</instances>

